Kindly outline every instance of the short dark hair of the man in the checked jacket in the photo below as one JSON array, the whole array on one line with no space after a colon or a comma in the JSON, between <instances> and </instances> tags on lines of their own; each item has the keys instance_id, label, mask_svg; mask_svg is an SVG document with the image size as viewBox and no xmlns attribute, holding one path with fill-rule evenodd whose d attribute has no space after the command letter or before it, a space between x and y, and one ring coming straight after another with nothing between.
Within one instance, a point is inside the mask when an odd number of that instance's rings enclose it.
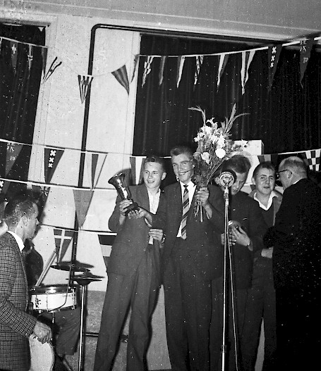
<instances>
[{"instance_id":1,"label":"short dark hair of the man in the checked jacket","mask_svg":"<svg viewBox=\"0 0 321 371\"><path fill-rule=\"evenodd\" d=\"M4 220L6 225L17 225L25 215L30 218L35 213L36 200L28 194L18 194L8 201L4 209Z\"/></svg>"}]
</instances>

